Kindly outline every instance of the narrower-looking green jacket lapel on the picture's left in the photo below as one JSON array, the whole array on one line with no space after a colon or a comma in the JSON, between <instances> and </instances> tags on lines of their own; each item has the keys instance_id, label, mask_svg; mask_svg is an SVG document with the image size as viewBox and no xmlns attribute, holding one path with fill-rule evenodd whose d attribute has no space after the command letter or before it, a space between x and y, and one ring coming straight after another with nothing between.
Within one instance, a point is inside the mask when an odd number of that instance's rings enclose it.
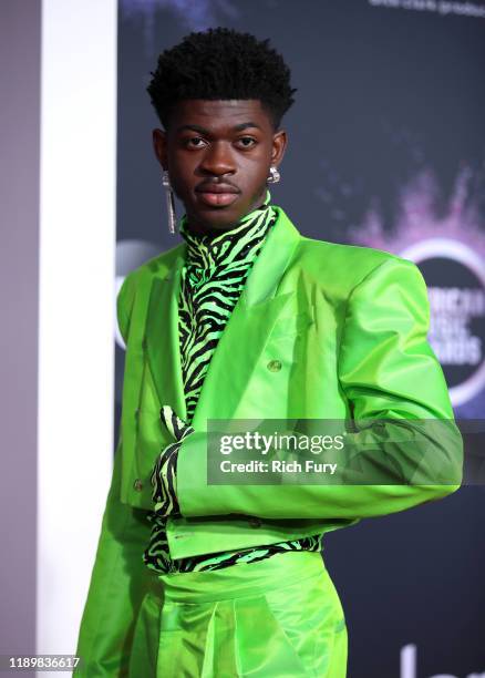
<instances>
[{"instance_id":1,"label":"narrower-looking green jacket lapel on the picture's left","mask_svg":"<svg viewBox=\"0 0 485 678\"><path fill-rule=\"evenodd\" d=\"M178 339L178 294L185 244L165 278L154 277L146 319L146 352L157 396L185 419L184 383Z\"/></svg>"}]
</instances>

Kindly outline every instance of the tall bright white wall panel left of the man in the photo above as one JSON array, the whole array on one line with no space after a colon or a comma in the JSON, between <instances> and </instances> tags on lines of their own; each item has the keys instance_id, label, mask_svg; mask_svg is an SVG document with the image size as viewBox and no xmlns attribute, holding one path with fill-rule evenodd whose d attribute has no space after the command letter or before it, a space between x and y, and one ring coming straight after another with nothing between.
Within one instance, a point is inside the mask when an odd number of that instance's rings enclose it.
<instances>
[{"instance_id":1,"label":"tall bright white wall panel left of the man","mask_svg":"<svg viewBox=\"0 0 485 678\"><path fill-rule=\"evenodd\" d=\"M113 455L115 0L42 6L38 653L74 653ZM45 676L45 672L42 672Z\"/></svg>"}]
</instances>

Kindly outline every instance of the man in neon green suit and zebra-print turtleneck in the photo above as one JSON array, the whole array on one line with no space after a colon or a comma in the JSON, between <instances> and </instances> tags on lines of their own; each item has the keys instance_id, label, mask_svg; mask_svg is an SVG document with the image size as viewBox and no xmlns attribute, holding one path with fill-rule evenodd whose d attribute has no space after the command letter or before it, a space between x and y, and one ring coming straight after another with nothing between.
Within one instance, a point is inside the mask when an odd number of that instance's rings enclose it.
<instances>
[{"instance_id":1,"label":"man in neon green suit and zebra-print turtleneck","mask_svg":"<svg viewBox=\"0 0 485 678\"><path fill-rule=\"evenodd\" d=\"M122 424L76 675L345 676L322 535L460 485L419 269L305 238L271 205L289 75L268 41L227 29L188 35L153 73L154 148L173 230L172 191L186 210L183 243L118 296ZM341 482L210 484L215 419L354 422Z\"/></svg>"}]
</instances>

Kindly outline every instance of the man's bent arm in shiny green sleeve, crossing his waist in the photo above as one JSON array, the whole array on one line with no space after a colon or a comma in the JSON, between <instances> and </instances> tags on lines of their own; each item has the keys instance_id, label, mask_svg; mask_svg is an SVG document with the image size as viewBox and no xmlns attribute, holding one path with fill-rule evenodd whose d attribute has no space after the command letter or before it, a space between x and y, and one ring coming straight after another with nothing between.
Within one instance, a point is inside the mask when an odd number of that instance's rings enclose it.
<instances>
[{"instance_id":1,"label":"man's bent arm in shiny green sleeve, crossing his waist","mask_svg":"<svg viewBox=\"0 0 485 678\"><path fill-rule=\"evenodd\" d=\"M463 443L441 366L426 340L429 320L425 282L417 267L404 259L390 257L349 296L339 380L353 419L376 421L350 434L345 450L354 460L361 454L369 468L372 460L378 465L383 462L386 469L380 477L388 473L389 483L207 485L207 436L196 432L178 452L182 515L361 518L403 511L457 490ZM433 419L441 420L435 422L440 425L426 428L425 420ZM403 430L404 445L389 443L402 438ZM430 435L430 430L438 435ZM413 463L410 452L421 473L417 477L424 477L422 484L413 477L407 479L412 484L406 479L400 482L395 472ZM369 483L370 476L364 477Z\"/></svg>"}]
</instances>

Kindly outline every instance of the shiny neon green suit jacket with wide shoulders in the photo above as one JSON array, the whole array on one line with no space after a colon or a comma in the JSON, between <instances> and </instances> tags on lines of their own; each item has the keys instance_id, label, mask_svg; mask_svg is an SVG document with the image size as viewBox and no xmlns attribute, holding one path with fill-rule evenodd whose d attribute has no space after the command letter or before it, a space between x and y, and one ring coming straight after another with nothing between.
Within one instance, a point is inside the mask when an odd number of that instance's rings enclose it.
<instances>
[{"instance_id":1,"label":"shiny neon green suit jacket with wide shoulders","mask_svg":"<svg viewBox=\"0 0 485 678\"><path fill-rule=\"evenodd\" d=\"M442 369L426 341L429 302L417 267L388 253L302 237L279 207L219 340L178 454L183 517L173 558L271 544L403 511L454 492L462 439ZM153 508L149 475L173 442L162 404L186 414L177 300L185 243L125 279L117 300L126 343L123 411L78 653L85 675L123 675L137 609L153 576L142 562ZM281 368L274 370L275 360ZM450 420L440 440L415 432L416 454L443 484L208 485L209 419ZM385 427L384 427L385 429ZM365 431L367 442L382 429ZM81 675L78 671L76 675ZM84 674L83 674L84 675Z\"/></svg>"}]
</instances>

